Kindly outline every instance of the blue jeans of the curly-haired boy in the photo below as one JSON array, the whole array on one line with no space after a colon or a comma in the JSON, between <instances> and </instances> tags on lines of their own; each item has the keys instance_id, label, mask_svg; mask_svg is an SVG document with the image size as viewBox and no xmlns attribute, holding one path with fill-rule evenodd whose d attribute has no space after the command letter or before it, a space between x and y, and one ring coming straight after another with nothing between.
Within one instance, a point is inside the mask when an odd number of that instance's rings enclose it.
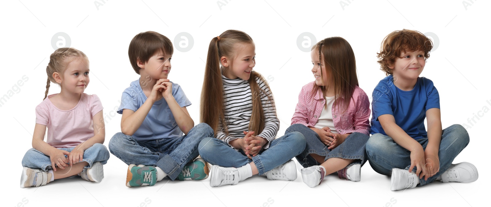
<instances>
[{"instance_id":1,"label":"blue jeans of the curly-haired boy","mask_svg":"<svg viewBox=\"0 0 491 207\"><path fill-rule=\"evenodd\" d=\"M417 139L416 141L426 149L428 138ZM452 164L454 158L469 144L469 134L462 125L452 125L443 129L441 134L440 148L438 149L438 159L440 170L428 178L427 181L419 179L418 186L428 184L443 174ZM390 176L392 168L409 170L411 166L411 152L394 142L389 136L376 133L367 142L366 151L370 166L375 172ZM412 170L416 172L416 167Z\"/></svg>"}]
</instances>

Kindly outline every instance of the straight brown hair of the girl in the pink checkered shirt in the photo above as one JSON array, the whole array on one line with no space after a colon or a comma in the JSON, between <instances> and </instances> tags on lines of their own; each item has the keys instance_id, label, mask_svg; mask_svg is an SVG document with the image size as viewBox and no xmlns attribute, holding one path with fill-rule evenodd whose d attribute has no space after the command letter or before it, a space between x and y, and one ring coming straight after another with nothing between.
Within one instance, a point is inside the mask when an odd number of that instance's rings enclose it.
<instances>
[{"instance_id":1,"label":"straight brown hair of the girl in the pink checkered shirt","mask_svg":"<svg viewBox=\"0 0 491 207\"><path fill-rule=\"evenodd\" d=\"M341 107L344 113L348 109L355 87L358 86L355 52L353 52L350 43L342 37L328 37L318 42L312 47L312 50L319 51L321 62L322 54L324 54L326 71L321 70L321 80L323 80L324 75L332 77L333 82L329 83L329 87L334 87L333 107ZM320 90L324 98L327 89L326 86L314 84L312 94L316 94Z\"/></svg>"}]
</instances>

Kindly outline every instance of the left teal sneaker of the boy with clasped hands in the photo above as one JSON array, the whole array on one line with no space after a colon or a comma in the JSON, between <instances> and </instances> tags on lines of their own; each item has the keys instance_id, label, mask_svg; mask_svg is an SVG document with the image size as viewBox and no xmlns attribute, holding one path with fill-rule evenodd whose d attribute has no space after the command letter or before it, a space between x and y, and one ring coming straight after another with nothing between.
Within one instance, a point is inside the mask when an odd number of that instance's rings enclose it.
<instances>
[{"instance_id":1,"label":"left teal sneaker of the boy with clasped hands","mask_svg":"<svg viewBox=\"0 0 491 207\"><path fill-rule=\"evenodd\" d=\"M134 165L128 166L126 174L126 186L137 187L155 185L157 182L157 169L154 166Z\"/></svg>"}]
</instances>

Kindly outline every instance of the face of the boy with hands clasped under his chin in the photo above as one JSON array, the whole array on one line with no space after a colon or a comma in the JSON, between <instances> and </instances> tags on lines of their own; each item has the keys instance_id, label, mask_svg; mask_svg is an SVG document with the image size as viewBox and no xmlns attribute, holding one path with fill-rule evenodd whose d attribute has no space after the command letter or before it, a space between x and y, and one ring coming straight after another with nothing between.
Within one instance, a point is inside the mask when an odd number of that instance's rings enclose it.
<instances>
[{"instance_id":1,"label":"face of the boy with hands clasped under his chin","mask_svg":"<svg viewBox=\"0 0 491 207\"><path fill-rule=\"evenodd\" d=\"M138 61L140 75L144 78L161 79L167 78L170 73L170 60L172 55L157 52L148 59L146 63Z\"/></svg>"}]
</instances>

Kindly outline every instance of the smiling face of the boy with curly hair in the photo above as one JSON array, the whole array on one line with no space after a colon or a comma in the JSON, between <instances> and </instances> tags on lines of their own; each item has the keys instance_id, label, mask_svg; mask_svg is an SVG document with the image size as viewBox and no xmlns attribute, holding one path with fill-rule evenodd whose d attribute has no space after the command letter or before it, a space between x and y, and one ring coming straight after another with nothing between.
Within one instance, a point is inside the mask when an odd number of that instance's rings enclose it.
<instances>
[{"instance_id":1,"label":"smiling face of the boy with curly hair","mask_svg":"<svg viewBox=\"0 0 491 207\"><path fill-rule=\"evenodd\" d=\"M426 64L424 55L423 51L402 52L394 64L389 66L392 75L406 80L418 78Z\"/></svg>"}]
</instances>

